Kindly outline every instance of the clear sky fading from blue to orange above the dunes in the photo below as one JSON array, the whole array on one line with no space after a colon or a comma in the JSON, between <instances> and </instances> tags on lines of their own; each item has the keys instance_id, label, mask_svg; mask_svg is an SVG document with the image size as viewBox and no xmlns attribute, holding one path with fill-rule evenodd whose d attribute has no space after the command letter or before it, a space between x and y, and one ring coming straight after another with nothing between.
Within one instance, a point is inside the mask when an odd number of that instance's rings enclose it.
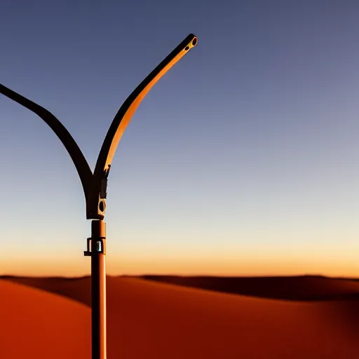
<instances>
[{"instance_id":1,"label":"clear sky fading from blue to orange above the dunes","mask_svg":"<svg viewBox=\"0 0 359 359\"><path fill-rule=\"evenodd\" d=\"M93 170L114 115L188 34L118 145L107 273L359 276L358 1L0 4L0 83L62 121ZM82 276L81 182L0 95L0 274Z\"/></svg>"}]
</instances>

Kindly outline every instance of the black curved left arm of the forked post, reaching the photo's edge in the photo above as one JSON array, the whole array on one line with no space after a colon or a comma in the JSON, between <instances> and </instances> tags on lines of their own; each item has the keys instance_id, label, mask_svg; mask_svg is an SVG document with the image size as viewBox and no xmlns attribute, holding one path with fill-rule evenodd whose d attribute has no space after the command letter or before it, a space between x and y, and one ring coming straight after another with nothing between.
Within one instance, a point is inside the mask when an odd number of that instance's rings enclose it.
<instances>
[{"instance_id":1,"label":"black curved left arm of the forked post, reaching the photo's edge","mask_svg":"<svg viewBox=\"0 0 359 359\"><path fill-rule=\"evenodd\" d=\"M18 104L21 104L30 111L33 111L36 115L42 118L43 121L45 121L48 126L50 126L50 128L57 135L57 137L59 137L60 141L67 149L67 152L69 152L69 155L74 162L76 170L79 173L83 192L85 194L87 202L93 172L91 172L90 166L88 165L85 156L83 156L81 149L76 144L74 138L72 137L72 135L70 135L69 131L53 114L51 114L50 111L44 109L39 104L28 100L26 97L15 93L15 91L11 90L10 88L7 88L6 86L0 84L0 93L10 98L11 100L18 102Z\"/></svg>"}]
</instances>

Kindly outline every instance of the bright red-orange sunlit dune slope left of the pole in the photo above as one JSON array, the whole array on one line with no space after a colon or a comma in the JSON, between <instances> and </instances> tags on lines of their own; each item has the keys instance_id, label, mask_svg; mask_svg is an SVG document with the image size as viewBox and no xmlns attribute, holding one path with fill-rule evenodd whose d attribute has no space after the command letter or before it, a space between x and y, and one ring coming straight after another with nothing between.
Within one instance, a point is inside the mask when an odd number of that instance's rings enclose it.
<instances>
[{"instance_id":1,"label":"bright red-orange sunlit dune slope left of the pole","mask_svg":"<svg viewBox=\"0 0 359 359\"><path fill-rule=\"evenodd\" d=\"M90 309L0 280L0 358L90 358Z\"/></svg>"}]
</instances>

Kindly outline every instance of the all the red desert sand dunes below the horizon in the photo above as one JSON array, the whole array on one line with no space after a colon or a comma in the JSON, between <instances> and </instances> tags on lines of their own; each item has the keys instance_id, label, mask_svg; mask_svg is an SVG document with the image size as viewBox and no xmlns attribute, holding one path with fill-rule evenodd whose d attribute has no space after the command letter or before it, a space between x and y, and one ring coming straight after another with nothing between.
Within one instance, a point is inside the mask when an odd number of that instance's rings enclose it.
<instances>
[{"instance_id":1,"label":"all the red desert sand dunes below the horizon","mask_svg":"<svg viewBox=\"0 0 359 359\"><path fill-rule=\"evenodd\" d=\"M108 359L359 358L355 280L156 277L107 278ZM0 304L1 359L90 358L90 278L2 277Z\"/></svg>"}]
</instances>

